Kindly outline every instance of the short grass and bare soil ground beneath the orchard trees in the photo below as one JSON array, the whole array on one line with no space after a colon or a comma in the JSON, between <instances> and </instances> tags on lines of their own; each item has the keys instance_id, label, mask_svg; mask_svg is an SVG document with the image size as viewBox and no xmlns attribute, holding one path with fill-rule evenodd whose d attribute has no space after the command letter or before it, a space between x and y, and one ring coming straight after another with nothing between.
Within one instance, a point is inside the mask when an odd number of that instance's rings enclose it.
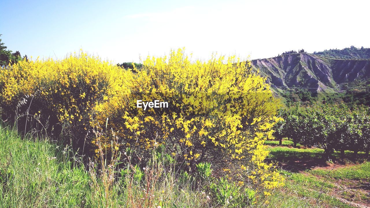
<instances>
[{"instance_id":1,"label":"short grass and bare soil ground beneath the orchard trees","mask_svg":"<svg viewBox=\"0 0 370 208\"><path fill-rule=\"evenodd\" d=\"M370 206L370 162L321 160L323 150L292 148L290 141L266 141L269 159L279 161L286 186L274 195L271 207L367 207ZM347 151L351 158L353 152ZM339 157L338 153L333 154ZM364 156L364 153L362 153ZM278 205L278 206L276 206Z\"/></svg>"}]
</instances>

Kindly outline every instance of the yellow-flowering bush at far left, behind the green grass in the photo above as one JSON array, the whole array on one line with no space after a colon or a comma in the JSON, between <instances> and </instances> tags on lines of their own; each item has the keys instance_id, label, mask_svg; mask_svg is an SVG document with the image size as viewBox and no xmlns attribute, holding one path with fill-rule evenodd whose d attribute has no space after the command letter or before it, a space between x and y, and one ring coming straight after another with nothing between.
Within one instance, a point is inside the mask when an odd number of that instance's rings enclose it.
<instances>
[{"instance_id":1,"label":"yellow-flowering bush at far left, behind the green grass","mask_svg":"<svg viewBox=\"0 0 370 208\"><path fill-rule=\"evenodd\" d=\"M0 73L0 107L3 116L47 132L73 137L82 147L95 106L110 96L121 68L80 51L63 60L20 61ZM17 111L17 113L16 113ZM28 122L33 120L34 122Z\"/></svg>"}]
</instances>

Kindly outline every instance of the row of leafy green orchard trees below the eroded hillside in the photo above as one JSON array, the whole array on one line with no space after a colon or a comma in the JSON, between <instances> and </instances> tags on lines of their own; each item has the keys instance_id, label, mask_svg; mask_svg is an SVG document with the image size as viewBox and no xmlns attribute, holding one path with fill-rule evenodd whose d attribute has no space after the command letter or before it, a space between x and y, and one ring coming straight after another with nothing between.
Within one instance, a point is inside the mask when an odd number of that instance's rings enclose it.
<instances>
[{"instance_id":1,"label":"row of leafy green orchard trees below the eroded hillside","mask_svg":"<svg viewBox=\"0 0 370 208\"><path fill-rule=\"evenodd\" d=\"M324 157L334 150L368 151L370 148L370 111L365 106L322 104L282 109L284 119L276 125L278 138L324 149ZM355 155L356 157L356 155Z\"/></svg>"}]
</instances>

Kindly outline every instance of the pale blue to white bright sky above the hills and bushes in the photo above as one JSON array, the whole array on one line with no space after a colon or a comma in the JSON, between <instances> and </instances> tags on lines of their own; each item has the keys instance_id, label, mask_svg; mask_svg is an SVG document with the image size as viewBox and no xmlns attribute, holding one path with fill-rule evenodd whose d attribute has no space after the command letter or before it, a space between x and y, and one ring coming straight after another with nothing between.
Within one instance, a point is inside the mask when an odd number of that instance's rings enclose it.
<instances>
[{"instance_id":1,"label":"pale blue to white bright sky above the hills and bushes","mask_svg":"<svg viewBox=\"0 0 370 208\"><path fill-rule=\"evenodd\" d=\"M61 59L81 48L114 63L185 47L242 59L284 51L370 47L370 1L0 1L0 38L22 56Z\"/></svg>"}]
</instances>

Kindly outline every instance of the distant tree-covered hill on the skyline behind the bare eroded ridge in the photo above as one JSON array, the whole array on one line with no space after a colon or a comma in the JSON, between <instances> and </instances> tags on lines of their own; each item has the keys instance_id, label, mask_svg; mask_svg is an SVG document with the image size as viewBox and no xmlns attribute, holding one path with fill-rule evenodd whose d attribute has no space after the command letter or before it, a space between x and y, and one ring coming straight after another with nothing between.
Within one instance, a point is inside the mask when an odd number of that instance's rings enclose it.
<instances>
[{"instance_id":1,"label":"distant tree-covered hill on the skyline behind the bare eroded ridge","mask_svg":"<svg viewBox=\"0 0 370 208\"><path fill-rule=\"evenodd\" d=\"M351 46L349 48L339 49L330 49L320 52L313 52L315 55L330 57L330 58L339 58L339 59L370 59L370 48L356 48Z\"/></svg>"}]
</instances>

